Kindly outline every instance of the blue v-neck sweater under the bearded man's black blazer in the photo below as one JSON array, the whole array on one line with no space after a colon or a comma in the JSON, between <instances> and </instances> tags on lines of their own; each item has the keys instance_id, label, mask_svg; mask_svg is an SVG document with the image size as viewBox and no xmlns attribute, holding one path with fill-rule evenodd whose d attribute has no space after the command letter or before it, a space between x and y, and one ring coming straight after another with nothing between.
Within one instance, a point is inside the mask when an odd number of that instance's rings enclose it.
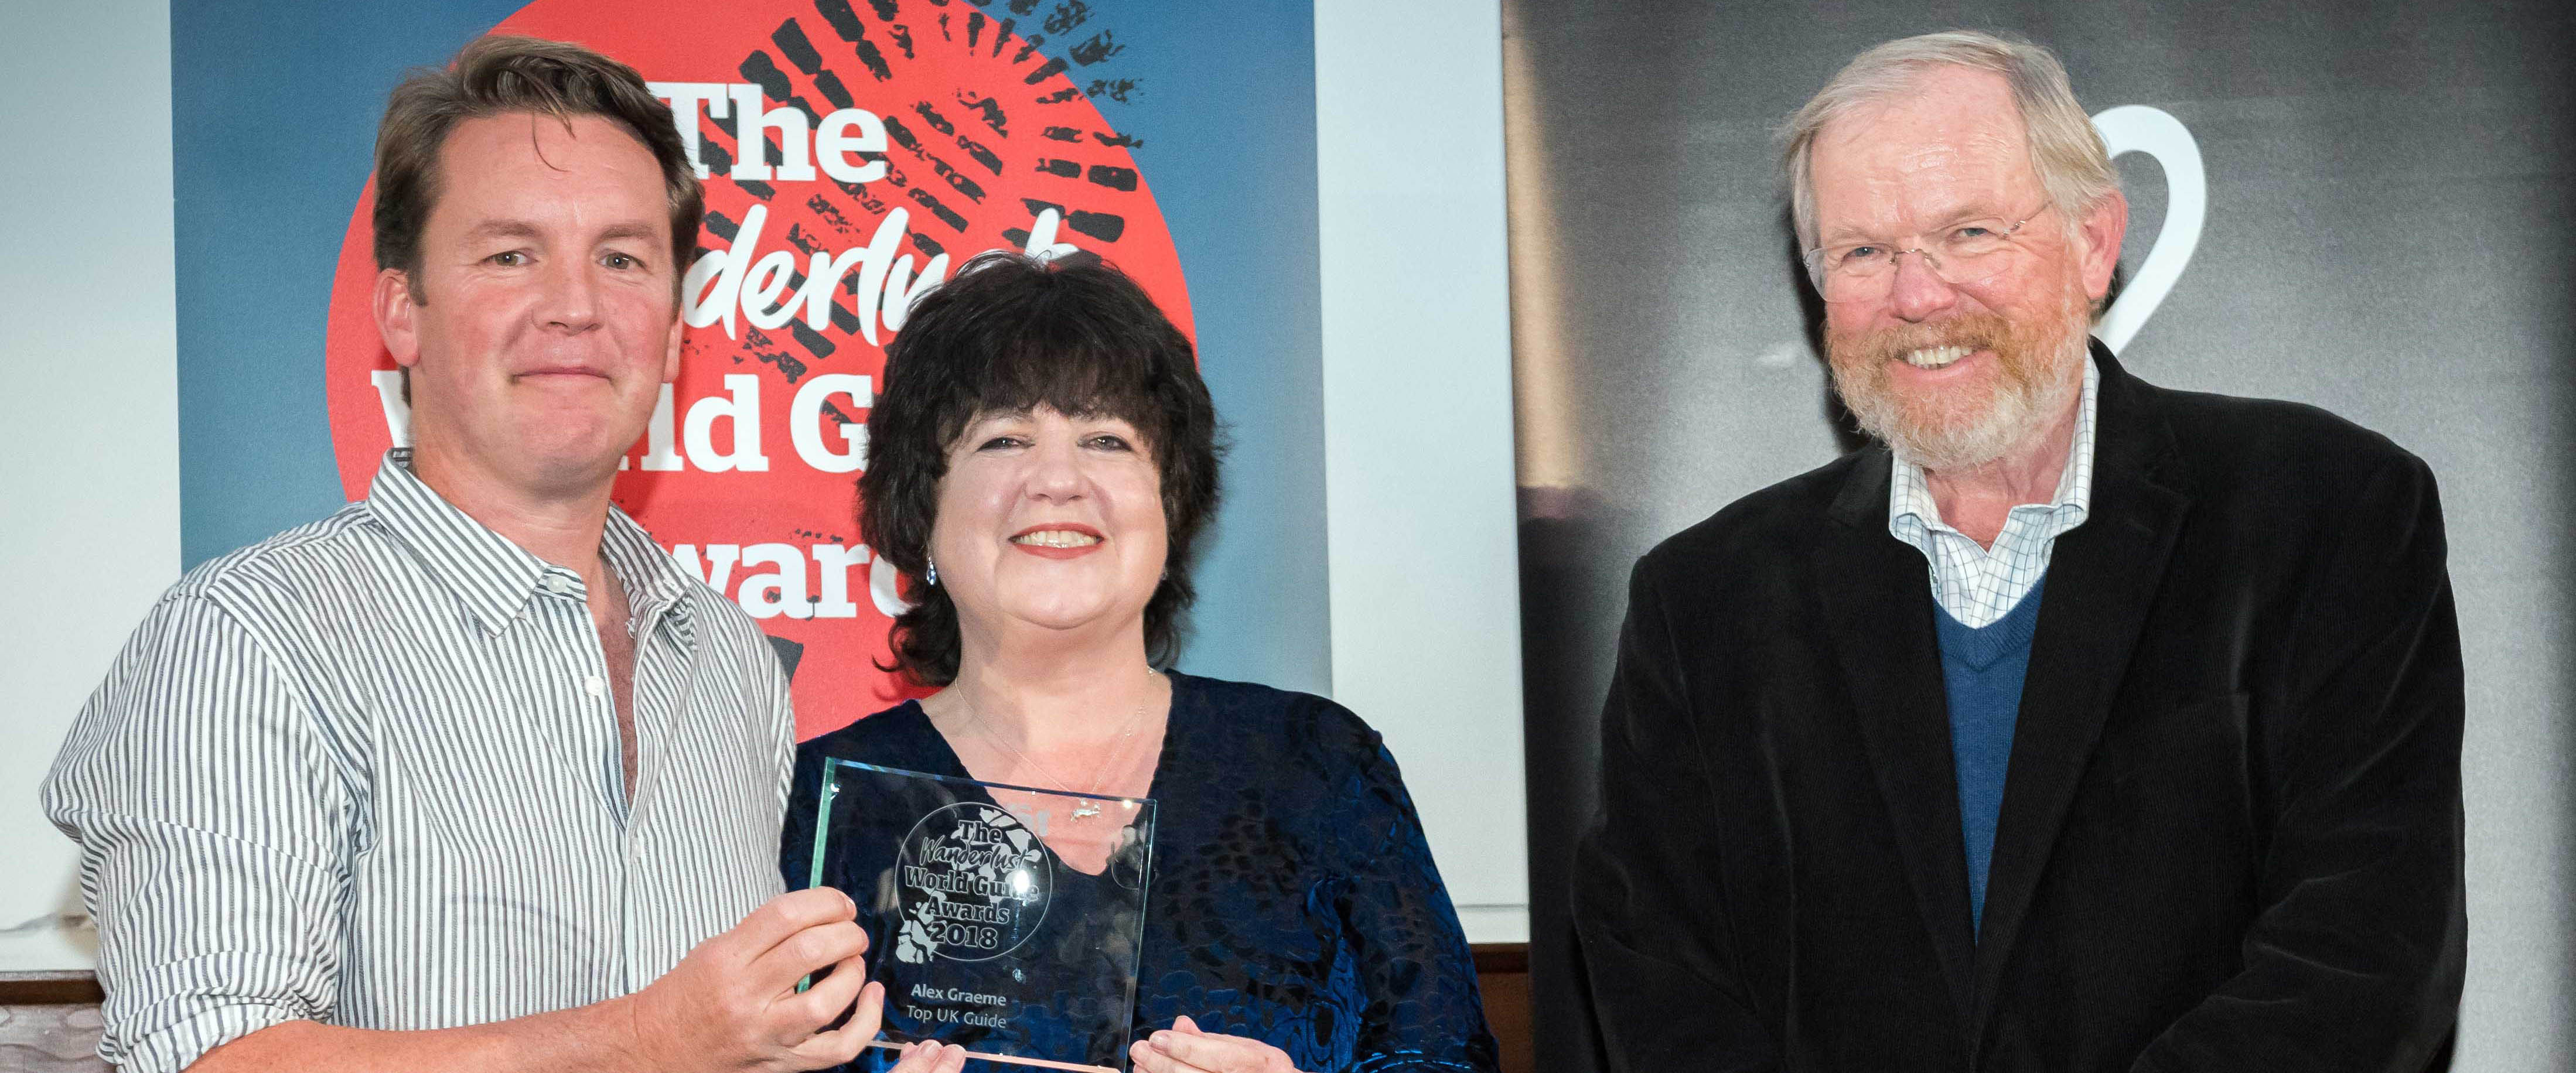
<instances>
[{"instance_id":1,"label":"blue v-neck sweater under the bearded man's black blazer","mask_svg":"<svg viewBox=\"0 0 2576 1073\"><path fill-rule=\"evenodd\" d=\"M1940 677L1950 695L1950 767L1958 775L1958 834L1968 847L1968 913L1986 924L1986 865L1994 826L2004 813L2004 767L2012 762L2012 723L2022 710L2030 636L2040 625L2040 576L2020 605L1984 628L1937 612Z\"/></svg>"}]
</instances>

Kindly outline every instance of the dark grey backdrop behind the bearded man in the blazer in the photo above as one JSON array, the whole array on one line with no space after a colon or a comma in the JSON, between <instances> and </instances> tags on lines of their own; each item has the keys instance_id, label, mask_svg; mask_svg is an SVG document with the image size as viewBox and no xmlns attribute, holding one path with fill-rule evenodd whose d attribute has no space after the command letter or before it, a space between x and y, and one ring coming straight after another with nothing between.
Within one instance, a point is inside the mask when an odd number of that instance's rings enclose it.
<instances>
[{"instance_id":1,"label":"dark grey backdrop behind the bearded man in the blazer","mask_svg":"<svg viewBox=\"0 0 2576 1073\"><path fill-rule=\"evenodd\" d=\"M1628 564L1852 445L1808 345L1770 126L1852 54L1953 26L2048 44L2087 111L2154 105L2197 139L2208 226L2130 371L2321 404L2439 476L2470 677L2455 1068L2563 1068L2571 10L1504 0L1540 1068L1595 1068L1564 885ZM2136 273L2166 178L2146 157L2120 172Z\"/></svg>"}]
</instances>

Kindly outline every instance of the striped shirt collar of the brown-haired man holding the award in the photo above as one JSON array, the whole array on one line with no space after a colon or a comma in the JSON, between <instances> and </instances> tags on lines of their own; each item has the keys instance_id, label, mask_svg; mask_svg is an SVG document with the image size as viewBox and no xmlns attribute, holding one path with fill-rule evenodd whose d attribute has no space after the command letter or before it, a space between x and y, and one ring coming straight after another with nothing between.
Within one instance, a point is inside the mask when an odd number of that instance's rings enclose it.
<instances>
[{"instance_id":1,"label":"striped shirt collar of the brown-haired man holding the award","mask_svg":"<svg viewBox=\"0 0 2576 1073\"><path fill-rule=\"evenodd\" d=\"M366 507L489 633L507 630L541 592L587 600L580 571L536 558L420 481L410 448L386 450L376 463ZM608 507L600 551L626 587L636 623L688 607L680 566L616 504Z\"/></svg>"}]
</instances>

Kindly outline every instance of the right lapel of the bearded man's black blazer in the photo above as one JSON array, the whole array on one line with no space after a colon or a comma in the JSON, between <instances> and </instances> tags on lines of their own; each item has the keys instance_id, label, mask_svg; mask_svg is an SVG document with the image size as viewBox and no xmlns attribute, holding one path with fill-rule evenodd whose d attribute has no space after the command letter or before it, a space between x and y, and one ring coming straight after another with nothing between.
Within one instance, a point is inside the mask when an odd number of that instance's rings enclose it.
<instances>
[{"instance_id":1,"label":"right lapel of the bearded man's black blazer","mask_svg":"<svg viewBox=\"0 0 2576 1073\"><path fill-rule=\"evenodd\" d=\"M2004 811L1986 872L1976 957L1976 1024L1984 1027L2030 895L2066 821L2076 782L2110 715L2130 651L2164 582L2190 499L2159 484L2172 430L2138 383L2094 342L2092 515L2048 558L2022 710L2012 731Z\"/></svg>"}]
</instances>

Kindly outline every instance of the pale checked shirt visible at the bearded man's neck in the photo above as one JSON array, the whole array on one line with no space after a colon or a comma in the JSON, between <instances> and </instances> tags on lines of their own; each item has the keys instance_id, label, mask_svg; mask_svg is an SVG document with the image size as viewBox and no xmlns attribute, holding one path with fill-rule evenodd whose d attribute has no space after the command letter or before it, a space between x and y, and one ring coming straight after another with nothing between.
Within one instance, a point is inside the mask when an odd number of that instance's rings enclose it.
<instances>
[{"instance_id":1,"label":"pale checked shirt visible at the bearded man's neck","mask_svg":"<svg viewBox=\"0 0 2576 1073\"><path fill-rule=\"evenodd\" d=\"M2004 618L2048 574L2058 538L2092 515L2094 394L2102 371L2084 358L2084 401L2076 409L2076 435L2066 445L2066 471L2045 504L2025 502L2004 512L2004 533L1994 548L1940 520L1922 466L1896 461L1888 481L1888 533L1932 561L1932 600L1968 628Z\"/></svg>"}]
</instances>

